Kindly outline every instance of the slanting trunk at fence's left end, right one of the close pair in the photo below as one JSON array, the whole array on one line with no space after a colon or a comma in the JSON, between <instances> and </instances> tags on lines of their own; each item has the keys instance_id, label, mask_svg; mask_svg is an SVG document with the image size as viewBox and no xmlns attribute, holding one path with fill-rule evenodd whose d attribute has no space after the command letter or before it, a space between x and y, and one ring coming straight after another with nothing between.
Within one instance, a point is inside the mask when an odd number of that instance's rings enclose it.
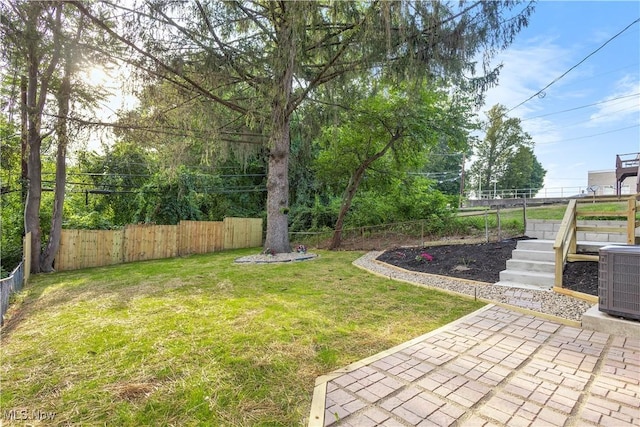
<instances>
[{"instance_id":1,"label":"slanting trunk at fence's left end, right one of the close pair","mask_svg":"<svg viewBox=\"0 0 640 427\"><path fill-rule=\"evenodd\" d=\"M58 138L58 152L56 153L56 184L53 200L53 214L51 216L51 232L47 247L42 254L40 270L45 273L53 271L53 261L62 235L62 214L64 208L64 194L67 181L67 146L69 133L67 116L69 115L69 99L71 98L71 47L65 46L64 76L58 90L58 123L56 136Z\"/></svg>"}]
</instances>

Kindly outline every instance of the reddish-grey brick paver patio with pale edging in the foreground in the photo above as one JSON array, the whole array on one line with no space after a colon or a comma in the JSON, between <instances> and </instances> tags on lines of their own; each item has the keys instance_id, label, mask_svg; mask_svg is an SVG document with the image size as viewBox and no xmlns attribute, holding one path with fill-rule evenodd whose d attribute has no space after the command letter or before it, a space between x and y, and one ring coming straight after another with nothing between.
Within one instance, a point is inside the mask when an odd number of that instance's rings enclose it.
<instances>
[{"instance_id":1,"label":"reddish-grey brick paver patio with pale edging in the foreground","mask_svg":"<svg viewBox=\"0 0 640 427\"><path fill-rule=\"evenodd\" d=\"M640 426L640 337L489 305L318 378L309 426Z\"/></svg>"}]
</instances>

